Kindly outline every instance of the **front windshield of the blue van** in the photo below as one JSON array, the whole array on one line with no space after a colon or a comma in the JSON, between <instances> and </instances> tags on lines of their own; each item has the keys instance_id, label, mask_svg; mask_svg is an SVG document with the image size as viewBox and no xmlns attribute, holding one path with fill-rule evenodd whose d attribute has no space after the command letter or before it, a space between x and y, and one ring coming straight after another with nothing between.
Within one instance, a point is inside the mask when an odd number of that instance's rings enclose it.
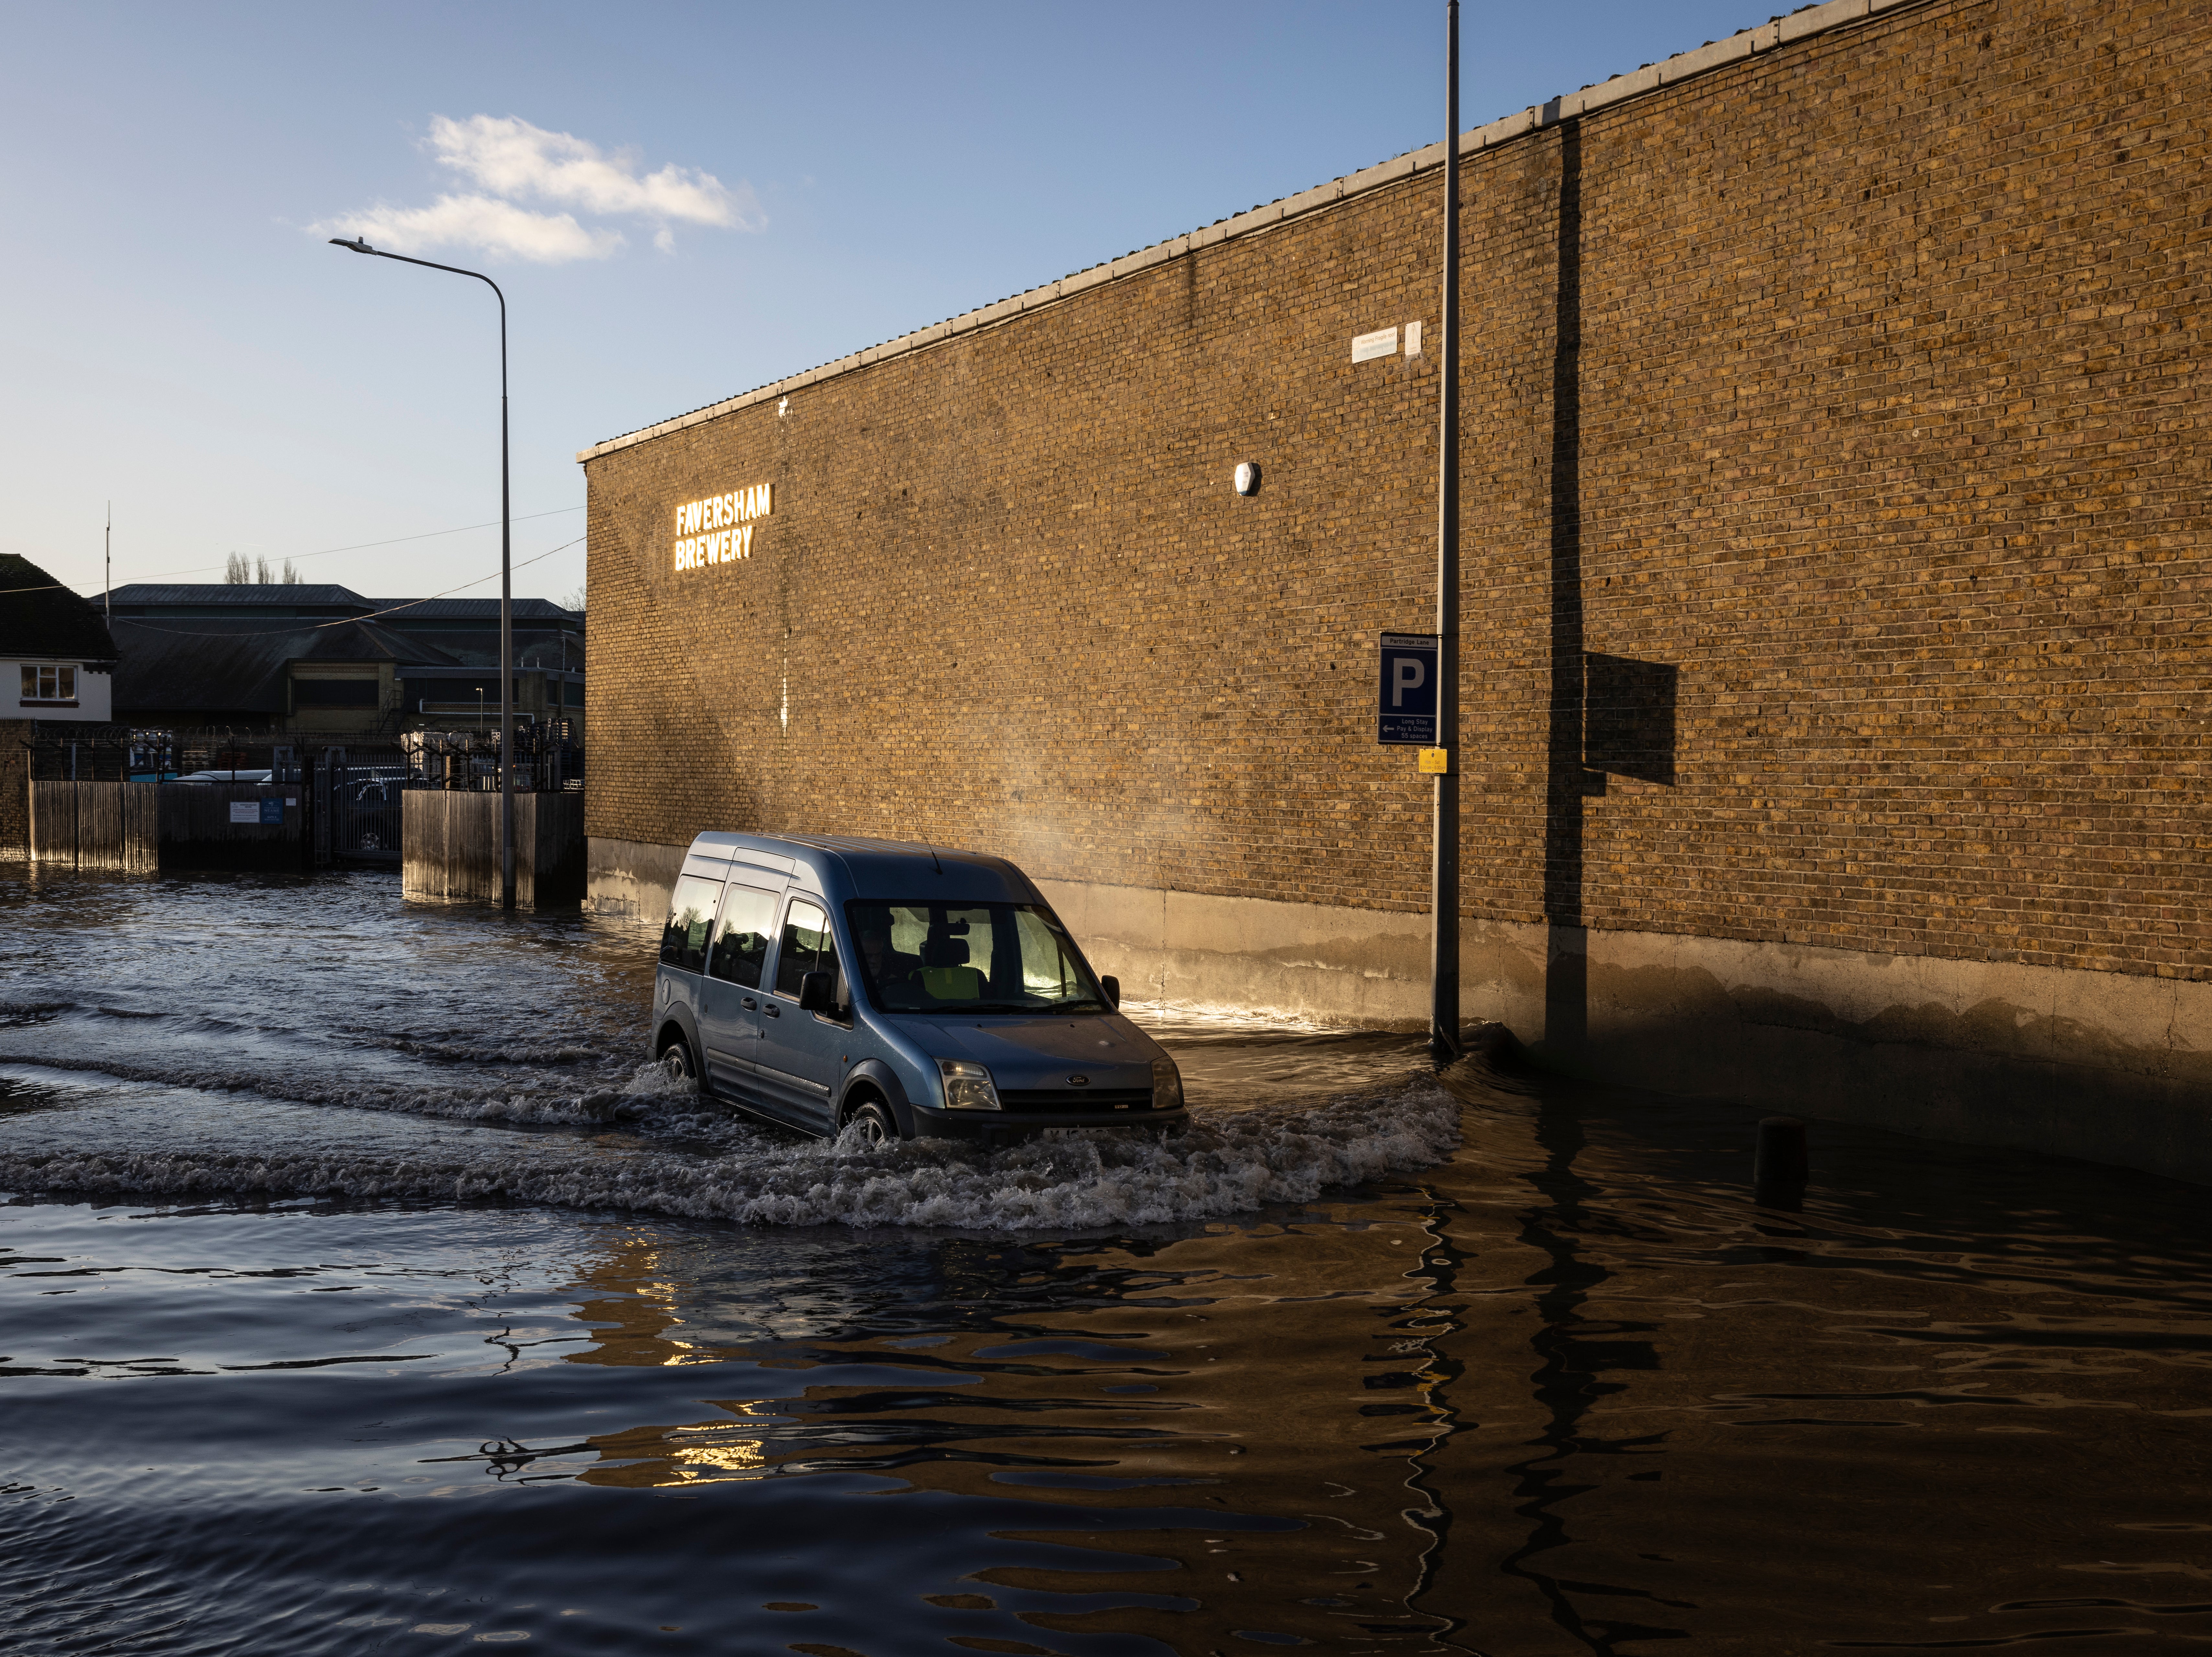
<instances>
[{"instance_id":1,"label":"front windshield of the blue van","mask_svg":"<svg viewBox=\"0 0 2212 1657\"><path fill-rule=\"evenodd\" d=\"M1108 1013L1051 909L1031 903L845 905L869 998L885 1013Z\"/></svg>"}]
</instances>

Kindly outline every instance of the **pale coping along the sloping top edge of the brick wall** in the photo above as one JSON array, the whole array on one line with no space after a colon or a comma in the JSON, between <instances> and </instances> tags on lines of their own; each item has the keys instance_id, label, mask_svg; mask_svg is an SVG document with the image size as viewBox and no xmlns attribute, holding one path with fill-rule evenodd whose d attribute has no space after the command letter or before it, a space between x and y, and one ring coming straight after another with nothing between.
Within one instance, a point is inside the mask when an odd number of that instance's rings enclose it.
<instances>
[{"instance_id":1,"label":"pale coping along the sloping top edge of the brick wall","mask_svg":"<svg viewBox=\"0 0 2212 1657\"><path fill-rule=\"evenodd\" d=\"M1641 97L1655 93L1661 86L1679 86L1692 75L1703 75L1714 69L1725 69L1728 64L1743 62L1745 58L1756 58L1759 53L1774 51L1776 46L1787 46L1798 40L1807 40L1829 29L1843 29L1847 24L1860 22L1865 18L1878 15L1882 11L1898 11L1902 7L1931 4L1933 0L1829 0L1820 7L1801 7L1787 18L1774 18L1759 24L1756 29L1743 29L1741 33L1728 35L1728 40L1710 40L1697 51L1674 53L1672 58L1644 64L1630 75L1615 75L1597 86L1584 86L1579 93L1564 93L1544 104L1531 104L1528 108L1502 115L1486 126L1478 126L1471 133L1460 135L1460 155L1480 155L1482 150L1509 144L1528 133L1537 133L1546 126L1555 126L1564 119L1577 115L1588 115L1613 104L1621 104L1630 97ZM757 403L768 403L772 398L790 396L792 392L805 389L807 385L818 385L821 381L847 374L856 367L872 367L874 363L885 363L894 356L905 356L909 352L927 350L929 345L940 345L958 334L971 334L980 327L993 327L998 323L1022 316L1040 305L1051 305L1073 294L1086 292L1108 281L1119 281L1121 277L1135 277L1141 270L1164 265L1170 259L1181 259L1199 248L1214 248L1232 237L1248 237L1259 230L1270 230L1285 219L1301 217L1316 208L1345 201L1354 195L1365 195L1369 190L1380 190L1387 184L1411 177L1416 173L1427 173L1444 164L1444 146L1429 144L1418 150L1407 150L1405 155L1394 155L1389 161L1363 168L1358 173L1347 173L1340 179L1329 179L1312 190L1301 190L1298 195L1283 197L1281 201L1270 201L1267 206L1252 208L1250 212L1239 212L1230 219L1221 219L1201 230L1190 230L1181 237L1170 237L1168 241L1155 241L1150 248L1137 248L1119 259L1108 259L1088 270L1077 270L1060 281L1048 281L1042 288L1031 288L1022 294L1009 294L991 305L982 305L960 316L949 316L942 323L931 323L911 334L900 334L898 338L885 341L880 345L869 345L863 352L841 356L834 363L823 363L821 367L803 369L801 374L772 381L770 385L754 387L752 392L741 392L739 396L726 398L721 403L710 403L690 414L679 414L672 420L661 420L659 425L639 427L637 431L626 431L619 438L608 438L606 442L595 442L588 449L577 451L577 462L597 460L599 456L615 454L617 449L628 449L630 445L646 442L648 438L661 438L670 431L684 431L686 427L703 425L706 420L717 420L723 414L737 414Z\"/></svg>"}]
</instances>

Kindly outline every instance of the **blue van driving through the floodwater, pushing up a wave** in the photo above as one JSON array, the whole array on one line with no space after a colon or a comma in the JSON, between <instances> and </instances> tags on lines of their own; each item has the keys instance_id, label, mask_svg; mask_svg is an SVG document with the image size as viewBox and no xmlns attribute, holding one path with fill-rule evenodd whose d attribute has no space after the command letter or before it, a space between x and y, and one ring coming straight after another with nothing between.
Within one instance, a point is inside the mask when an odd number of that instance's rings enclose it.
<instances>
[{"instance_id":1,"label":"blue van driving through the floodwater, pushing up a wave","mask_svg":"<svg viewBox=\"0 0 2212 1657\"><path fill-rule=\"evenodd\" d=\"M1183 1077L1004 858L701 834L653 982L672 1077L869 1144L1175 1128Z\"/></svg>"}]
</instances>

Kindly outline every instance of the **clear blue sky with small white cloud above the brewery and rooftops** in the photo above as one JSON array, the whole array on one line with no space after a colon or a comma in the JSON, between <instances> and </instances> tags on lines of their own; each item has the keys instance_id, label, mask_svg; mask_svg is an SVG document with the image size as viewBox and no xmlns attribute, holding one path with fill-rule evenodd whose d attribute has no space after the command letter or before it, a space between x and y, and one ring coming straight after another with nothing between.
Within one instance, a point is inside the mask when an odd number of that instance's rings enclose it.
<instances>
[{"instance_id":1,"label":"clear blue sky with small white cloud above the brewery and rooftops","mask_svg":"<svg viewBox=\"0 0 2212 1657\"><path fill-rule=\"evenodd\" d=\"M1767 13L1469 0L1462 124ZM507 290L560 597L577 449L1442 133L1440 0L7 15L0 549L93 593L108 500L117 584L498 593L491 294L327 235Z\"/></svg>"}]
</instances>

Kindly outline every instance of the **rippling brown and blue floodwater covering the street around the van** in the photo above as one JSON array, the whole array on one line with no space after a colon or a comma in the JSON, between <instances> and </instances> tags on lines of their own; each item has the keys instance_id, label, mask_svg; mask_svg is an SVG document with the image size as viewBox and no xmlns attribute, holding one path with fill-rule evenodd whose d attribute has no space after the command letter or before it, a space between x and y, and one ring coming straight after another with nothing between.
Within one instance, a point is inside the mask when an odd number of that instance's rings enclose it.
<instances>
[{"instance_id":1,"label":"rippling brown and blue floodwater covering the street around the van","mask_svg":"<svg viewBox=\"0 0 2212 1657\"><path fill-rule=\"evenodd\" d=\"M648 987L0 883L0 1648L2212 1642L2201 1188L1816 1124L1759 1210L1756 1100L1166 1011L1179 1142L867 1155Z\"/></svg>"}]
</instances>

